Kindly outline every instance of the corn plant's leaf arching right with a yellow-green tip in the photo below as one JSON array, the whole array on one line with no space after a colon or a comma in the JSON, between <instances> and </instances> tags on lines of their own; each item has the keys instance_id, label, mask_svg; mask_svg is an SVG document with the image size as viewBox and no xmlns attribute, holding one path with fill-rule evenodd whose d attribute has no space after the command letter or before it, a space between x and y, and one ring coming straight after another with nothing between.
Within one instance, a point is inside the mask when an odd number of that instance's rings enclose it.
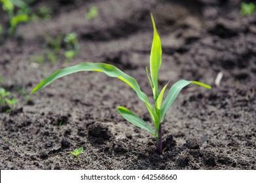
<instances>
[{"instance_id":1,"label":"corn plant's leaf arching right with a yellow-green tip","mask_svg":"<svg viewBox=\"0 0 256 183\"><path fill-rule=\"evenodd\" d=\"M160 118L162 121L164 120L167 110L172 106L172 104L174 103L175 99L177 98L177 95L179 94L179 92L181 92L181 89L191 83L197 84L198 86L202 86L207 89L211 89L211 86L204 84L202 82L179 80L171 87L171 89L169 90L169 92L166 96L166 99L162 105L162 108L160 110Z\"/></svg>"}]
</instances>

